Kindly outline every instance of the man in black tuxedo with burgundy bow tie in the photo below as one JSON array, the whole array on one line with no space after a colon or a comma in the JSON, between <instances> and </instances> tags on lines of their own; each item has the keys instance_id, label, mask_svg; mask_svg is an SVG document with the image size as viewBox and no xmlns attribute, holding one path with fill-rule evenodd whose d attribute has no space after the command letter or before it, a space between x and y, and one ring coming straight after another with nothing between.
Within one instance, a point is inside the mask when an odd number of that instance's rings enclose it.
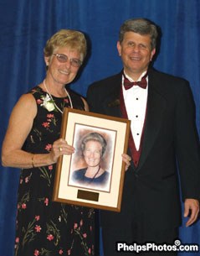
<instances>
[{"instance_id":1,"label":"man in black tuxedo with burgundy bow tie","mask_svg":"<svg viewBox=\"0 0 200 256\"><path fill-rule=\"evenodd\" d=\"M123 71L95 82L87 93L91 112L131 119L132 161L121 212L100 214L105 256L133 255L117 248L119 242L174 244L181 224L177 164L187 226L199 212L200 154L192 93L182 78L151 69L156 38L151 21L127 20L117 42ZM141 82L131 86L132 81Z\"/></svg>"}]
</instances>

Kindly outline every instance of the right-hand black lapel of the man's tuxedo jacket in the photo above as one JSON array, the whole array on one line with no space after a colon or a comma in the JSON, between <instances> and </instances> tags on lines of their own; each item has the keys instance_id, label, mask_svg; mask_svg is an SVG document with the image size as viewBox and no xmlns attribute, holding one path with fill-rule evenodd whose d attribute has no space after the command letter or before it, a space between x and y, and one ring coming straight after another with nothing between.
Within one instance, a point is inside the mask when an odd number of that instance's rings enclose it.
<instances>
[{"instance_id":1,"label":"right-hand black lapel of the man's tuxedo jacket","mask_svg":"<svg viewBox=\"0 0 200 256\"><path fill-rule=\"evenodd\" d=\"M141 169L146 157L148 156L155 140L162 126L162 120L164 118L164 110L166 108L166 99L162 93L157 90L159 87L154 79L149 76L148 86L148 100L146 111L146 125L144 128L144 138L142 142L141 158L137 171Z\"/></svg>"}]
</instances>

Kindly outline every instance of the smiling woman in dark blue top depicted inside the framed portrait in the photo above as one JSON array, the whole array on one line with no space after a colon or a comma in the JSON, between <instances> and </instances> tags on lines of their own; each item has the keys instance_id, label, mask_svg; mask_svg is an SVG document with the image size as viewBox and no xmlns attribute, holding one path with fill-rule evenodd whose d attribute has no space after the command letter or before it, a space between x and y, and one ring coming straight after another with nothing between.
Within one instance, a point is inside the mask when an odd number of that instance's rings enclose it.
<instances>
[{"instance_id":1,"label":"smiling woman in dark blue top depicted inside the framed portrait","mask_svg":"<svg viewBox=\"0 0 200 256\"><path fill-rule=\"evenodd\" d=\"M109 173L100 166L106 145L106 140L100 133L89 133L83 138L81 150L87 167L74 171L74 181L92 187L107 185Z\"/></svg>"}]
</instances>

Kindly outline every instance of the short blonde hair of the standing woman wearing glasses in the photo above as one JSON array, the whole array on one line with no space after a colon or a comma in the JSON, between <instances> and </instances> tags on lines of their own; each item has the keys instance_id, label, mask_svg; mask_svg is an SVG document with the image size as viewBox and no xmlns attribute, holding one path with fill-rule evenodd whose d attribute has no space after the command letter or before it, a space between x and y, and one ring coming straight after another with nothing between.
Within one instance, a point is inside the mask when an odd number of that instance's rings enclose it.
<instances>
[{"instance_id":1,"label":"short blonde hair of the standing woman wearing glasses","mask_svg":"<svg viewBox=\"0 0 200 256\"><path fill-rule=\"evenodd\" d=\"M53 55L57 47L69 47L72 50L78 50L82 60L87 53L87 42L82 32L73 29L61 29L54 34L44 47L44 56Z\"/></svg>"}]
</instances>

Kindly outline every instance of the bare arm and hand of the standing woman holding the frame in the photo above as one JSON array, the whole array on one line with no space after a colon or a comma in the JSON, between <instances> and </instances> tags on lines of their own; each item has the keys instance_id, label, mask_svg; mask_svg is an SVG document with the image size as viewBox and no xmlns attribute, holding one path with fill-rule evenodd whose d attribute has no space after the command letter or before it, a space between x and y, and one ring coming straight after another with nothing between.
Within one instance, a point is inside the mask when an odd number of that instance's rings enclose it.
<instances>
[{"instance_id":1,"label":"bare arm and hand of the standing woman holding the frame","mask_svg":"<svg viewBox=\"0 0 200 256\"><path fill-rule=\"evenodd\" d=\"M3 166L16 168L32 168L33 165L44 166L54 164L59 155L69 154L72 149L65 141L58 140L49 154L32 154L22 150L23 144L33 126L33 119L37 114L36 102L31 94L25 94L18 100L8 123L8 130L3 140ZM59 147L63 151L59 151ZM67 148L68 146L68 148Z\"/></svg>"}]
</instances>

